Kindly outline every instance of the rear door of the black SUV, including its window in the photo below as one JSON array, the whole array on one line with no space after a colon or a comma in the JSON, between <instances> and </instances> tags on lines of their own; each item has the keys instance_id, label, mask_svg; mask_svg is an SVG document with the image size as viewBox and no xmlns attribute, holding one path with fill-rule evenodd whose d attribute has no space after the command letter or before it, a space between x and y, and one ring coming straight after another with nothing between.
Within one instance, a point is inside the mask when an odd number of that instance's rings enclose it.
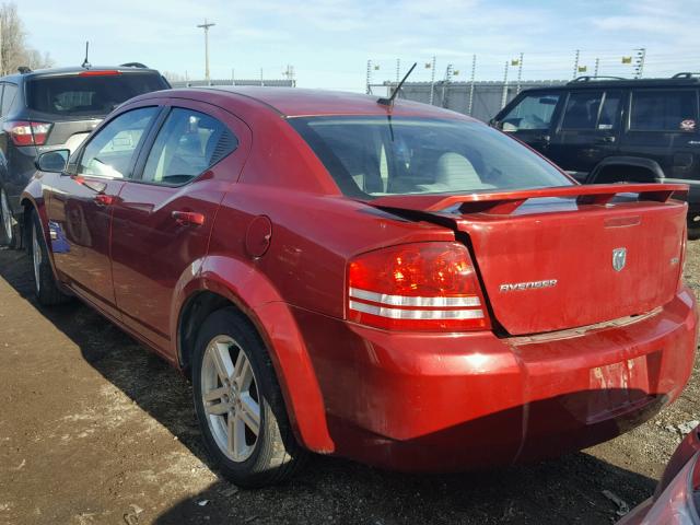
<instances>
[{"instance_id":1,"label":"rear door of the black SUV, including its window","mask_svg":"<svg viewBox=\"0 0 700 525\"><path fill-rule=\"evenodd\" d=\"M618 151L622 90L581 90L567 96L548 156L575 178Z\"/></svg>"}]
</instances>

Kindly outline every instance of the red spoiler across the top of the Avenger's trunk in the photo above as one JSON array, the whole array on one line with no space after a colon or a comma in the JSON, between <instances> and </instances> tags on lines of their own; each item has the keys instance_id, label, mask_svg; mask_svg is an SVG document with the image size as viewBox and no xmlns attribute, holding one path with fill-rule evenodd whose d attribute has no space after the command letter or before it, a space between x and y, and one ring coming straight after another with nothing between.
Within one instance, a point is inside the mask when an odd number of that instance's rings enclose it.
<instances>
[{"instance_id":1,"label":"red spoiler across the top of the Avenger's trunk","mask_svg":"<svg viewBox=\"0 0 700 525\"><path fill-rule=\"evenodd\" d=\"M459 205L463 213L511 214L528 199L572 197L579 205L605 206L619 194L638 194L639 200L666 202L688 194L687 184L591 184L465 195L390 195L365 201L377 208L438 212Z\"/></svg>"}]
</instances>

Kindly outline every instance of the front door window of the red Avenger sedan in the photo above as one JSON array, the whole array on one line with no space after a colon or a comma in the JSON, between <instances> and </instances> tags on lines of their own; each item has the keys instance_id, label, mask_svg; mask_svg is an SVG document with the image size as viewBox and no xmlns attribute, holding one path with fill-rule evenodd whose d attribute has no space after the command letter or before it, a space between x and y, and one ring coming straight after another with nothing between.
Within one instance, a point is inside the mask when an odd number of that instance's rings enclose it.
<instances>
[{"instance_id":1,"label":"front door window of the red Avenger sedan","mask_svg":"<svg viewBox=\"0 0 700 525\"><path fill-rule=\"evenodd\" d=\"M158 107L141 107L107 124L85 145L79 173L110 178L130 177L133 154L158 110Z\"/></svg>"}]
</instances>

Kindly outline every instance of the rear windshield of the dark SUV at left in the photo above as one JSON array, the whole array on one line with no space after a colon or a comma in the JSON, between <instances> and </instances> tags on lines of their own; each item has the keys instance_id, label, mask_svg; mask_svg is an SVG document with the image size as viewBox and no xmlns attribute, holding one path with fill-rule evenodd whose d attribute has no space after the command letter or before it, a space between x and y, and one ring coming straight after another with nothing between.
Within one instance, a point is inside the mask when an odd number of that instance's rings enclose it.
<instances>
[{"instance_id":1,"label":"rear windshield of the dark SUV at left","mask_svg":"<svg viewBox=\"0 0 700 525\"><path fill-rule=\"evenodd\" d=\"M45 77L27 83L27 106L52 115L104 116L136 95L164 89L155 73Z\"/></svg>"}]
</instances>

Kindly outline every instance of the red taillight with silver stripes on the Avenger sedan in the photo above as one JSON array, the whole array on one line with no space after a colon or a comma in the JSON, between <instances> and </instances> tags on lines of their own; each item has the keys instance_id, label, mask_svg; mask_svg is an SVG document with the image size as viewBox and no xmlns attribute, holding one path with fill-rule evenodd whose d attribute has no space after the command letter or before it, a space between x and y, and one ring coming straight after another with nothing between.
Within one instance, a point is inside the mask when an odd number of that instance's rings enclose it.
<instances>
[{"instance_id":1,"label":"red taillight with silver stripes on the Avenger sedan","mask_svg":"<svg viewBox=\"0 0 700 525\"><path fill-rule=\"evenodd\" d=\"M490 328L471 257L457 243L405 244L352 259L348 318L397 330Z\"/></svg>"}]
</instances>

